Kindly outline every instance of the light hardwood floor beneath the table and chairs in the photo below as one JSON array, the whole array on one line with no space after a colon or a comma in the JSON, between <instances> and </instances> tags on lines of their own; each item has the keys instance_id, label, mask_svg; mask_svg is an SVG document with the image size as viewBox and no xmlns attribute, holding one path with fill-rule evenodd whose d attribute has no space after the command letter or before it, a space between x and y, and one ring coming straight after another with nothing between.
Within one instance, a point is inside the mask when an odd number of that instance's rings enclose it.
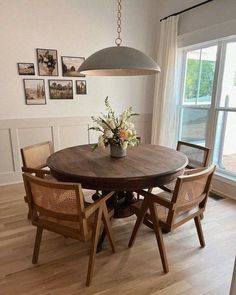
<instances>
[{"instance_id":1,"label":"light hardwood floor beneath the table and chairs","mask_svg":"<svg viewBox=\"0 0 236 295\"><path fill-rule=\"evenodd\" d=\"M142 226L133 248L135 217L116 219L117 253L107 241L96 256L91 287L85 287L88 244L43 233L39 264L31 263L36 229L27 220L22 184L0 187L0 294L226 295L236 253L236 202L209 199L200 249L194 222L164 235L170 272L164 274L155 236Z\"/></svg>"}]
</instances>

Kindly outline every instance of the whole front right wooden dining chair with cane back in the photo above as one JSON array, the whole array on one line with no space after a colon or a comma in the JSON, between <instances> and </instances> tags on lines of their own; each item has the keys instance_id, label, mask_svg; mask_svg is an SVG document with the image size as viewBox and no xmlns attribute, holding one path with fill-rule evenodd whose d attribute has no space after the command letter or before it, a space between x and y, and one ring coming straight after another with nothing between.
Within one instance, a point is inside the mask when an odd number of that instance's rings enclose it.
<instances>
[{"instance_id":1,"label":"whole front right wooden dining chair with cane back","mask_svg":"<svg viewBox=\"0 0 236 295\"><path fill-rule=\"evenodd\" d=\"M137 220L129 241L129 247L134 244L141 224L146 220L150 222L155 231L164 272L169 271L165 246L161 229L170 232L187 221L194 219L201 247L205 240L201 227L201 214L203 214L211 185L215 166L202 168L201 172L190 172L177 178L173 193L160 193L154 195L144 190L138 191L144 197L132 205ZM167 210L167 215L162 214ZM159 214L160 212L160 214Z\"/></svg>"}]
</instances>

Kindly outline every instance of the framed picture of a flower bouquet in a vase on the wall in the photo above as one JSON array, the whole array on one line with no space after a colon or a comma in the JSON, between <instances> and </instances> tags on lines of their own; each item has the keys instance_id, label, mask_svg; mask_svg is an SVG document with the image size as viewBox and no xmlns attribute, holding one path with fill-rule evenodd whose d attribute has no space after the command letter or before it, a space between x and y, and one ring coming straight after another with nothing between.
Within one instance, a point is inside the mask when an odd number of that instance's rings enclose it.
<instances>
[{"instance_id":1,"label":"framed picture of a flower bouquet in a vase on the wall","mask_svg":"<svg viewBox=\"0 0 236 295\"><path fill-rule=\"evenodd\" d=\"M57 51L36 49L39 76L58 76Z\"/></svg>"}]
</instances>

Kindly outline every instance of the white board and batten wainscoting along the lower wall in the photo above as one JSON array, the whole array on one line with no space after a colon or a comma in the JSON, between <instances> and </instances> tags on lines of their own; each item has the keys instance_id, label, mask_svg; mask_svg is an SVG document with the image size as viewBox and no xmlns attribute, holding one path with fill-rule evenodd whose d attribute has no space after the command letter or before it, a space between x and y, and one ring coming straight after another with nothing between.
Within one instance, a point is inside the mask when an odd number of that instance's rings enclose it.
<instances>
[{"instance_id":1,"label":"white board and batten wainscoting along the lower wall","mask_svg":"<svg viewBox=\"0 0 236 295\"><path fill-rule=\"evenodd\" d=\"M150 143L151 114L133 119L143 143ZM52 141L55 151L94 143L98 132L90 117L27 118L0 120L0 185L22 181L20 148L44 141Z\"/></svg>"}]
</instances>

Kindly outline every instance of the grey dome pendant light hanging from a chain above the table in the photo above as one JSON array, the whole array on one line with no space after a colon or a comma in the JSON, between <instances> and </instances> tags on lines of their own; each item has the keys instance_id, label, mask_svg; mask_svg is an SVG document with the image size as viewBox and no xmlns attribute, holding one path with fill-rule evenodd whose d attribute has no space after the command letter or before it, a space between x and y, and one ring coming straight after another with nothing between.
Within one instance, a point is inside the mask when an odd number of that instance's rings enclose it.
<instances>
[{"instance_id":1,"label":"grey dome pendant light hanging from a chain above the table","mask_svg":"<svg viewBox=\"0 0 236 295\"><path fill-rule=\"evenodd\" d=\"M107 47L89 56L79 67L79 72L87 76L138 76L160 72L157 63L143 52L121 46L121 0L117 0L116 46Z\"/></svg>"}]
</instances>

